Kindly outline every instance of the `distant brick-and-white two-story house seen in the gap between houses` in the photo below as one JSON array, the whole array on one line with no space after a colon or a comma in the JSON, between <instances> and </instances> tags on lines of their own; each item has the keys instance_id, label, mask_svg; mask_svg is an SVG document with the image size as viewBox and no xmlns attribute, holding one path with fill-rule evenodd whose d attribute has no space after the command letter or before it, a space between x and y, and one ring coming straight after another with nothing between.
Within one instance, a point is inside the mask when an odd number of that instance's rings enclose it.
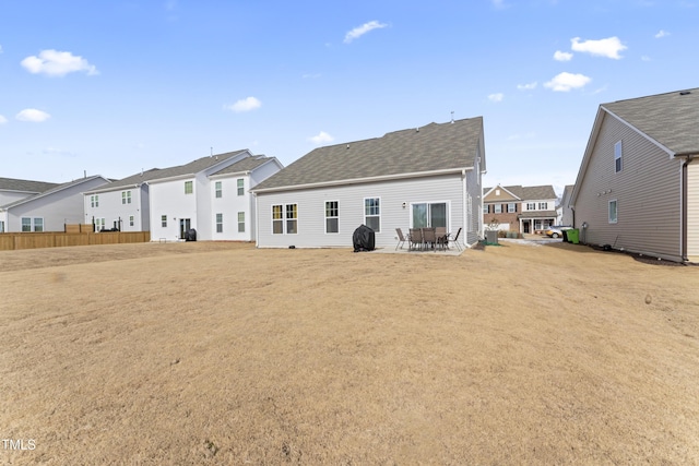
<instances>
[{"instance_id":1,"label":"distant brick-and-white two-story house seen in the gap between houses","mask_svg":"<svg viewBox=\"0 0 699 466\"><path fill-rule=\"evenodd\" d=\"M550 184L496 186L483 194L483 217L488 228L522 234L542 232L556 223L556 192Z\"/></svg>"}]
</instances>

